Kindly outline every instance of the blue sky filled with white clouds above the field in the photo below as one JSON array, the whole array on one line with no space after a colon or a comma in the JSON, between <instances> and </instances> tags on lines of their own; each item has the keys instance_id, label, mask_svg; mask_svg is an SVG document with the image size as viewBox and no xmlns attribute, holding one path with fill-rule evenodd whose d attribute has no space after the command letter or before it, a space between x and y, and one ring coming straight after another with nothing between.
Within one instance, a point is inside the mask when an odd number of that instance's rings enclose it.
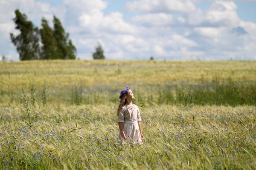
<instances>
[{"instance_id":1,"label":"blue sky filled with white clouds above the field","mask_svg":"<svg viewBox=\"0 0 256 170\"><path fill-rule=\"evenodd\" d=\"M92 59L255 60L256 0L0 0L0 59L19 61L10 40L19 9L41 28L61 20L77 48Z\"/></svg>"}]
</instances>

